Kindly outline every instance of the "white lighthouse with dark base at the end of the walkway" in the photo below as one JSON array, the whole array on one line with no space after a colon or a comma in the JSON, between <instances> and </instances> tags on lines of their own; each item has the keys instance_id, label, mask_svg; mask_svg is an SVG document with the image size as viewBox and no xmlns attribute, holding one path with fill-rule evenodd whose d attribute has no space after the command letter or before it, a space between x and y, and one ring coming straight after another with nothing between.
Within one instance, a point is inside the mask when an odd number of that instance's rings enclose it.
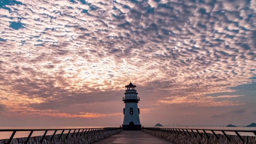
<instances>
[{"instance_id":1,"label":"white lighthouse with dark base at the end of the walkway","mask_svg":"<svg viewBox=\"0 0 256 144\"><path fill-rule=\"evenodd\" d=\"M123 97L125 103L123 130L141 130L140 109L138 108L140 97L137 96L137 90L134 89L136 86L130 83L125 87L127 89Z\"/></svg>"}]
</instances>

